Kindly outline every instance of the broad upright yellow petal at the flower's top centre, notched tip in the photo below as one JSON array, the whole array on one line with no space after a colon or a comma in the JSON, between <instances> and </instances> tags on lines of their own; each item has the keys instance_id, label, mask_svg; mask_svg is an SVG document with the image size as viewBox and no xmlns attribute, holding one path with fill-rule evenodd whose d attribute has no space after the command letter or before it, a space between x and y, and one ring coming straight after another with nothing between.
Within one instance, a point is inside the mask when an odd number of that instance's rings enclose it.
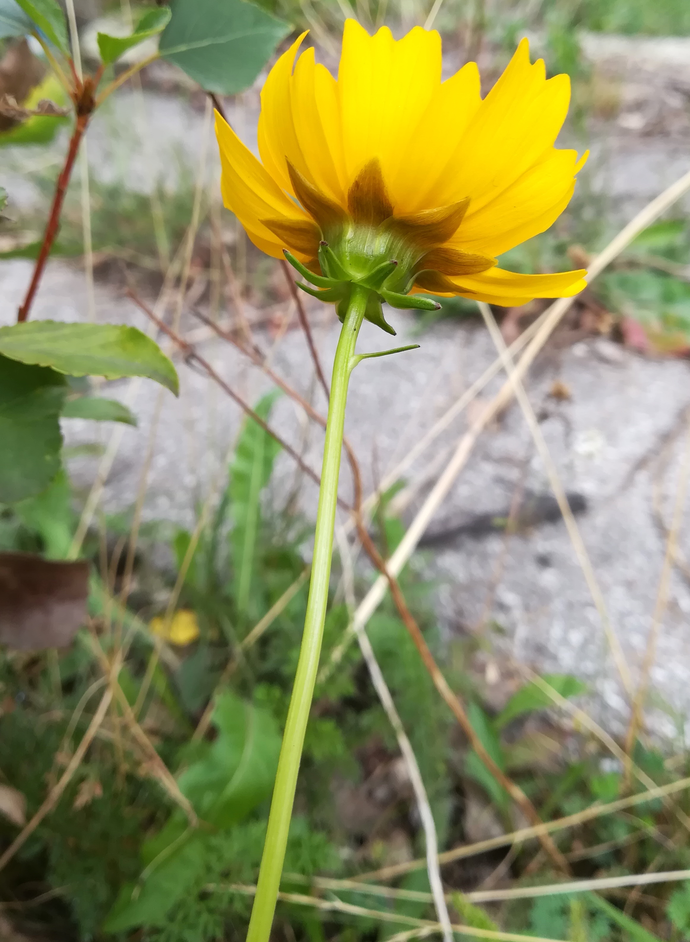
<instances>
[{"instance_id":1,"label":"broad upright yellow petal at the flower's top centre, notched tip","mask_svg":"<svg viewBox=\"0 0 690 942\"><path fill-rule=\"evenodd\" d=\"M387 26L374 36L345 21L338 96L345 170L350 183L377 158L388 185L441 83L441 38L419 26L395 41Z\"/></svg>"}]
</instances>

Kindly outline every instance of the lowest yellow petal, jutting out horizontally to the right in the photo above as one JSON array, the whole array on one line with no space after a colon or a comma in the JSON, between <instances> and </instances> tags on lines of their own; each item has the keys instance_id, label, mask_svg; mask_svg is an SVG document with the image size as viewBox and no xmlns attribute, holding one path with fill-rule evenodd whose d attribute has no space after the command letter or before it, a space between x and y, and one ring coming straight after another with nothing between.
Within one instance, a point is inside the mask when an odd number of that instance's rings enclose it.
<instances>
[{"instance_id":1,"label":"lowest yellow petal, jutting out horizontally to the right","mask_svg":"<svg viewBox=\"0 0 690 942\"><path fill-rule=\"evenodd\" d=\"M457 286L457 294L514 307L534 298L570 298L586 287L585 275L584 268L553 275L520 275L505 268L489 268L479 275L463 275L451 281Z\"/></svg>"}]
</instances>

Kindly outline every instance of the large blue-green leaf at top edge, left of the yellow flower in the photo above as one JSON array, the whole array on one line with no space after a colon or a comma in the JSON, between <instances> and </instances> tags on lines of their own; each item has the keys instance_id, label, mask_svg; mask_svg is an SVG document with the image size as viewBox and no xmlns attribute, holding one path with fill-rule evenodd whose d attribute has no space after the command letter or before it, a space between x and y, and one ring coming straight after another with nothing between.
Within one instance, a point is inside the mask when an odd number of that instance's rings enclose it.
<instances>
[{"instance_id":1,"label":"large blue-green leaf at top edge, left of the yellow flower","mask_svg":"<svg viewBox=\"0 0 690 942\"><path fill-rule=\"evenodd\" d=\"M171 0L158 47L202 89L233 95L248 89L290 27L245 0Z\"/></svg>"}]
</instances>

